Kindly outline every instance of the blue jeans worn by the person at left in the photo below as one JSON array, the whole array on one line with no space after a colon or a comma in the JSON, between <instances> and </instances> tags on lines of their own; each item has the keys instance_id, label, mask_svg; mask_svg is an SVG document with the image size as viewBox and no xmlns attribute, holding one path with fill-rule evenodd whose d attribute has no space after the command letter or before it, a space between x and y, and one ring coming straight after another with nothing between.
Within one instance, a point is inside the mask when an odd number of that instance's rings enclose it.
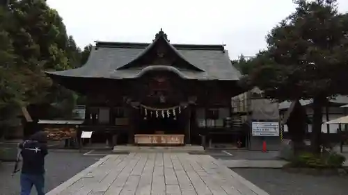
<instances>
[{"instance_id":1,"label":"blue jeans worn by the person at left","mask_svg":"<svg viewBox=\"0 0 348 195\"><path fill-rule=\"evenodd\" d=\"M30 195L31 188L35 185L38 195L45 195L45 178L43 174L21 174L21 195Z\"/></svg>"}]
</instances>

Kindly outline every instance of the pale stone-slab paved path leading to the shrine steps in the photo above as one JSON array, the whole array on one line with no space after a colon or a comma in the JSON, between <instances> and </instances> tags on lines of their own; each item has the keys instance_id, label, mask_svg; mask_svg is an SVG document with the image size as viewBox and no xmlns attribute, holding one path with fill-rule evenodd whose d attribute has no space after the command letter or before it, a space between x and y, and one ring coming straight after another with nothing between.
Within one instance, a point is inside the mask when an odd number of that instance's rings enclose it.
<instances>
[{"instance_id":1,"label":"pale stone-slab paved path leading to the shrine steps","mask_svg":"<svg viewBox=\"0 0 348 195\"><path fill-rule=\"evenodd\" d=\"M48 195L269 195L209 155L107 155Z\"/></svg>"}]
</instances>

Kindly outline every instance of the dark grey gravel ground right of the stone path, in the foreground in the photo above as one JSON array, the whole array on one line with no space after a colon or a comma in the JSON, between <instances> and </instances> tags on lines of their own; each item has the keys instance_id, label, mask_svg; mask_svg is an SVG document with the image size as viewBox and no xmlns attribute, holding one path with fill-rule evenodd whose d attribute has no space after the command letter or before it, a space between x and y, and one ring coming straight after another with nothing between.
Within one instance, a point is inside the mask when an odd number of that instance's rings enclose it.
<instances>
[{"instance_id":1,"label":"dark grey gravel ground right of the stone path, in the foreground","mask_svg":"<svg viewBox=\"0 0 348 195\"><path fill-rule=\"evenodd\" d=\"M308 176L280 169L232 169L270 195L345 195L348 176Z\"/></svg>"}]
</instances>

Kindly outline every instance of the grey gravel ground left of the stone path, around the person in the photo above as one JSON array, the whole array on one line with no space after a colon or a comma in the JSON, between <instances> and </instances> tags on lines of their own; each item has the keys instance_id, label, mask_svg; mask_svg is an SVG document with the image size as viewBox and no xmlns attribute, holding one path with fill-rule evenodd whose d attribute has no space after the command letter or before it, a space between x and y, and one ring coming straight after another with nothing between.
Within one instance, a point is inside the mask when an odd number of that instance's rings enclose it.
<instances>
[{"instance_id":1,"label":"grey gravel ground left of the stone path, around the person","mask_svg":"<svg viewBox=\"0 0 348 195\"><path fill-rule=\"evenodd\" d=\"M100 158L102 158L100 155L82 155L76 151L49 151L45 162L47 170L45 177L46 192L61 185L61 183L97 162ZM20 194L20 173L16 173L15 176L11 177L13 166L13 162L0 163L0 195ZM31 191L31 194L36 194L35 188Z\"/></svg>"}]
</instances>

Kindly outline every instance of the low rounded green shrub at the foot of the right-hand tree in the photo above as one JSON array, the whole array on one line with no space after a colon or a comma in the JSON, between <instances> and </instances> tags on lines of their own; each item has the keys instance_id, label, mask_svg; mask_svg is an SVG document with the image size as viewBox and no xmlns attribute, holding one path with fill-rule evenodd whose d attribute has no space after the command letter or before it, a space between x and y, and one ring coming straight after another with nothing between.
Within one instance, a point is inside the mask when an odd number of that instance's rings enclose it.
<instances>
[{"instance_id":1,"label":"low rounded green shrub at the foot of the right-hand tree","mask_svg":"<svg viewBox=\"0 0 348 195\"><path fill-rule=\"evenodd\" d=\"M346 158L338 153L301 153L296 155L288 164L289 167L315 168L315 169L333 169L342 167Z\"/></svg>"}]
</instances>

